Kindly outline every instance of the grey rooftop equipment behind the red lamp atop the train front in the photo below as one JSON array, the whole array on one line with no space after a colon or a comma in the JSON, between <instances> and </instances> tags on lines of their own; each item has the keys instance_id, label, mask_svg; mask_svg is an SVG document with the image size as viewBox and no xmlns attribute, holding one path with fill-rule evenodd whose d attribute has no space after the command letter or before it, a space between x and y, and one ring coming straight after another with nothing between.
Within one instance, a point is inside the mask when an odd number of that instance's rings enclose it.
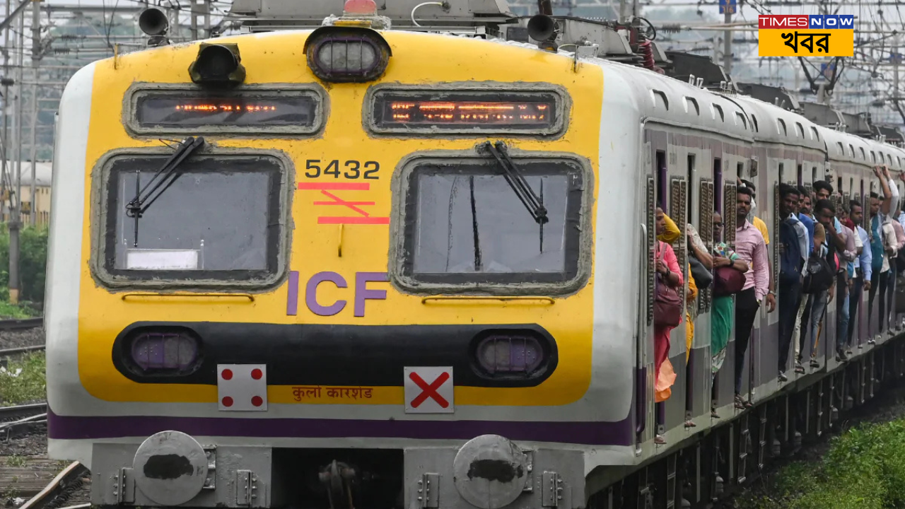
<instances>
[{"instance_id":1,"label":"grey rooftop equipment behind the red lamp atop the train front","mask_svg":"<svg viewBox=\"0 0 905 509\"><path fill-rule=\"evenodd\" d=\"M389 18L394 30L469 33L475 32L475 27L486 27L487 33L498 34L499 25L517 19L505 0L446 0L443 5L425 4L424 0L378 0L376 5L376 14ZM325 18L342 15L343 2L233 0L230 14L249 32L315 29Z\"/></svg>"}]
</instances>

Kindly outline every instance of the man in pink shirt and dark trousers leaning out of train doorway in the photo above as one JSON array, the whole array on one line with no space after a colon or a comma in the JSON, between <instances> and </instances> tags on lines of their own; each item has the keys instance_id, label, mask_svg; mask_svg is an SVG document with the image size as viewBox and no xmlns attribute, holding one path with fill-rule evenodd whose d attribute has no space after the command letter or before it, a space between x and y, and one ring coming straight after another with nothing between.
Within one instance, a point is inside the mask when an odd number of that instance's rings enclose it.
<instances>
[{"instance_id":1,"label":"man in pink shirt and dark trousers leaning out of train doorway","mask_svg":"<svg viewBox=\"0 0 905 509\"><path fill-rule=\"evenodd\" d=\"M776 296L768 293L770 274L764 236L748 222L751 190L748 187L738 187L736 196L736 254L750 268L745 273L745 286L736 295L735 404L736 408L748 408L751 402L741 397L741 376L745 372L748 341L761 301L766 297L767 312L773 312L776 309Z\"/></svg>"}]
</instances>

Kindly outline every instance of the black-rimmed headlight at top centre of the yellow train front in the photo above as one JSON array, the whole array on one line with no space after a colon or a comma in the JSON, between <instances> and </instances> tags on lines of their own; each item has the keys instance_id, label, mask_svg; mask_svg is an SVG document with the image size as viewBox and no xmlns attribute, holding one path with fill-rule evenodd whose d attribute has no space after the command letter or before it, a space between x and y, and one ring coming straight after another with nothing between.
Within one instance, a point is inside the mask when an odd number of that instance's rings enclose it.
<instances>
[{"instance_id":1,"label":"black-rimmed headlight at top centre of the yellow train front","mask_svg":"<svg viewBox=\"0 0 905 509\"><path fill-rule=\"evenodd\" d=\"M369 28L323 26L305 43L311 72L325 82L371 82L386 71L392 55L380 34Z\"/></svg>"}]
</instances>

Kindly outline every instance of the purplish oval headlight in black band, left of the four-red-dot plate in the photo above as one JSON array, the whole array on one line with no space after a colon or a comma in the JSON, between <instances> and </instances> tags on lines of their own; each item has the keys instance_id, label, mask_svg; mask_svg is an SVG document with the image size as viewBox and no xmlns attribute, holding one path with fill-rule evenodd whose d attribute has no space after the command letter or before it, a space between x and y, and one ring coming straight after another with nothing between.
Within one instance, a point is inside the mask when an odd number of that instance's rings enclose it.
<instances>
[{"instance_id":1,"label":"purplish oval headlight in black band, left of the four-red-dot plate","mask_svg":"<svg viewBox=\"0 0 905 509\"><path fill-rule=\"evenodd\" d=\"M138 375L188 375L201 363L200 342L179 329L136 331L127 351L127 364Z\"/></svg>"}]
</instances>

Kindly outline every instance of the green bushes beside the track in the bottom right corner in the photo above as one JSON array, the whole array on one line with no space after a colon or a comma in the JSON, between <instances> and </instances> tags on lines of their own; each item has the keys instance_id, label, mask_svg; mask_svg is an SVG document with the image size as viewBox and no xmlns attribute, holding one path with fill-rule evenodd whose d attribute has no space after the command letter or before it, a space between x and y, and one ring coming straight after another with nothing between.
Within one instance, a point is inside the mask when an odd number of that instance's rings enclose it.
<instances>
[{"instance_id":1,"label":"green bushes beside the track in the bottom right corner","mask_svg":"<svg viewBox=\"0 0 905 509\"><path fill-rule=\"evenodd\" d=\"M893 509L905 507L905 419L853 428L834 437L818 464L785 466L769 495L744 509Z\"/></svg>"}]
</instances>

